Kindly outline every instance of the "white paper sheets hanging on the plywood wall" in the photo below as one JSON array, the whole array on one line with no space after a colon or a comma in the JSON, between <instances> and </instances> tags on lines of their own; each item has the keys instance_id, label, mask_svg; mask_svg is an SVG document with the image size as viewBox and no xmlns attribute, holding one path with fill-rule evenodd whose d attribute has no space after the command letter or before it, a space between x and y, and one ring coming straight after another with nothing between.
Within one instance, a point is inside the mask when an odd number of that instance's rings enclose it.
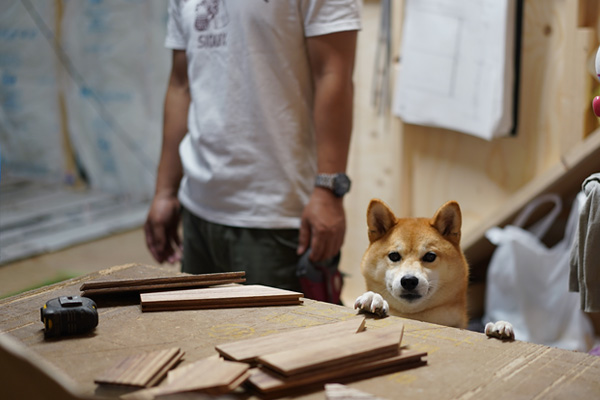
<instances>
[{"instance_id":1,"label":"white paper sheets hanging on the plywood wall","mask_svg":"<svg viewBox=\"0 0 600 400\"><path fill-rule=\"evenodd\" d=\"M393 112L487 140L513 127L515 0L407 0Z\"/></svg>"}]
</instances>

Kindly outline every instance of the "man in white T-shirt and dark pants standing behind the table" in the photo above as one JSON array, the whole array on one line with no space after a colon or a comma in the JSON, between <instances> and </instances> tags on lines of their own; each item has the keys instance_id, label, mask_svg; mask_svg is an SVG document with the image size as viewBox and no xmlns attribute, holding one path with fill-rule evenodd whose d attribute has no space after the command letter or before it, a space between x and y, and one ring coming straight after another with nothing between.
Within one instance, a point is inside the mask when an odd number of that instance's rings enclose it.
<instances>
[{"instance_id":1,"label":"man in white T-shirt and dark pants standing behind the table","mask_svg":"<svg viewBox=\"0 0 600 400\"><path fill-rule=\"evenodd\" d=\"M302 254L339 253L359 1L170 0L158 262L299 290Z\"/></svg>"}]
</instances>

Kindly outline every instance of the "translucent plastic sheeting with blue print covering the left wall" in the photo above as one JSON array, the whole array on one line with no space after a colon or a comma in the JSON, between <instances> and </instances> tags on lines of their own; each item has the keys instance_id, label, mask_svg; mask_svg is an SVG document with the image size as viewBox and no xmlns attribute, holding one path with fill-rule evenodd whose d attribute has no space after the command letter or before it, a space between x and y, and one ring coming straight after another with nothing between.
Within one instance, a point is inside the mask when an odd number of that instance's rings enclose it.
<instances>
[{"instance_id":1,"label":"translucent plastic sheeting with blue print covering the left wall","mask_svg":"<svg viewBox=\"0 0 600 400\"><path fill-rule=\"evenodd\" d=\"M163 0L2 2L2 173L149 197L166 19Z\"/></svg>"}]
</instances>

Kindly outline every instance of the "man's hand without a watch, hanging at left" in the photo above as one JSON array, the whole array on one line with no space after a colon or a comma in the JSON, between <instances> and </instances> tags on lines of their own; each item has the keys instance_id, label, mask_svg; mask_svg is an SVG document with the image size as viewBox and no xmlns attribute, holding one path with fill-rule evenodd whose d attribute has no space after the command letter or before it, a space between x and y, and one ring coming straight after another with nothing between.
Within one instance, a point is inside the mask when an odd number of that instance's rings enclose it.
<instances>
[{"instance_id":1,"label":"man's hand without a watch, hanging at left","mask_svg":"<svg viewBox=\"0 0 600 400\"><path fill-rule=\"evenodd\" d=\"M155 196L144 224L146 245L159 263L173 264L181 260L178 227L179 200L176 196Z\"/></svg>"}]
</instances>

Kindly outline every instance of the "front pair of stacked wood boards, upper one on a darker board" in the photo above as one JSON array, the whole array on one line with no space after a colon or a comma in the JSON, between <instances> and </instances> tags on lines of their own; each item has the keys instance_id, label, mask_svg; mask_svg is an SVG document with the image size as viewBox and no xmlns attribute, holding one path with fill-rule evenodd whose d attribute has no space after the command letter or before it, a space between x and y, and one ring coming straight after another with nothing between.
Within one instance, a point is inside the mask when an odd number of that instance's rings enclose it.
<instances>
[{"instance_id":1,"label":"front pair of stacked wood boards, upper one on a darker board","mask_svg":"<svg viewBox=\"0 0 600 400\"><path fill-rule=\"evenodd\" d=\"M424 352L400 349L402 325L369 329L319 340L258 357L248 386L263 395L285 395L299 388L352 381L425 364ZM293 342L289 342L292 343Z\"/></svg>"}]
</instances>

